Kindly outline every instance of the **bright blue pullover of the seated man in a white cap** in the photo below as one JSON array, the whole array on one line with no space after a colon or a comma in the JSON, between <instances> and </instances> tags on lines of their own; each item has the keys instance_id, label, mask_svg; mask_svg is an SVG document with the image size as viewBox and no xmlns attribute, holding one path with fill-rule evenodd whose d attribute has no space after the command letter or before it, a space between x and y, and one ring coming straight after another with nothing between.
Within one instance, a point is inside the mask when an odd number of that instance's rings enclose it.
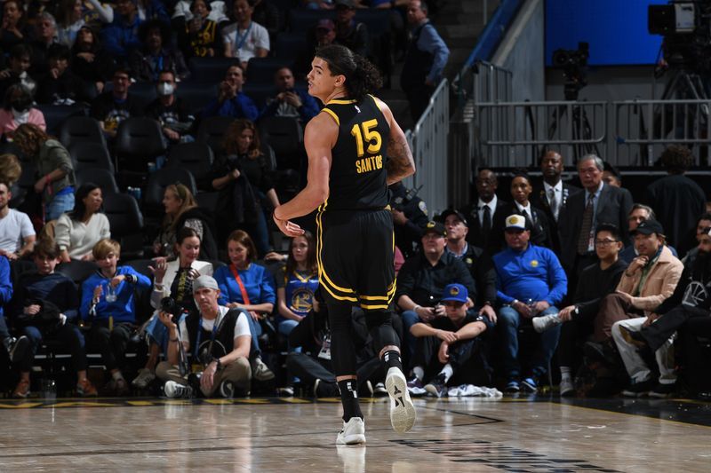
<instances>
[{"instance_id":1,"label":"bright blue pullover of the seated man in a white cap","mask_svg":"<svg viewBox=\"0 0 711 473\"><path fill-rule=\"evenodd\" d=\"M558 256L548 248L529 243L523 251L507 248L493 256L497 296L503 304L546 301L555 305L568 291L568 278Z\"/></svg>"}]
</instances>

